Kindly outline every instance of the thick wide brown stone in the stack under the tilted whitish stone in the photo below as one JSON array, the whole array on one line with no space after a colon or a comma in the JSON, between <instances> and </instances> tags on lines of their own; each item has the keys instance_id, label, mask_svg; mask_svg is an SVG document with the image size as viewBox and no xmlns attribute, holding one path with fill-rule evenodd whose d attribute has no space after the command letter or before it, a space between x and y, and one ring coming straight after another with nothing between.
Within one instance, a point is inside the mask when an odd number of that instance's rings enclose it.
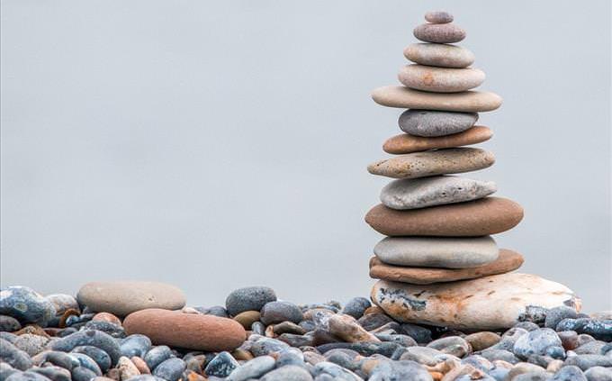
<instances>
[{"instance_id":1,"label":"thick wide brown stone in the stack under the tilted whitish stone","mask_svg":"<svg viewBox=\"0 0 612 381\"><path fill-rule=\"evenodd\" d=\"M506 198L396 211L378 204L365 215L375 231L389 236L480 237L508 231L523 219L523 208Z\"/></svg>"}]
</instances>

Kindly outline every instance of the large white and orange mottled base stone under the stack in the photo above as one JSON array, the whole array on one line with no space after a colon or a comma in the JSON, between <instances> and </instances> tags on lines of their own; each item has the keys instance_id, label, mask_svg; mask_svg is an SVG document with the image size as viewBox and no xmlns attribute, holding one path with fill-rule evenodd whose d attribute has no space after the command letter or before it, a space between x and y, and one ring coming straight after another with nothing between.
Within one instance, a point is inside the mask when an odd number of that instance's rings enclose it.
<instances>
[{"instance_id":1,"label":"large white and orange mottled base stone under the stack","mask_svg":"<svg viewBox=\"0 0 612 381\"><path fill-rule=\"evenodd\" d=\"M581 309L581 300L566 286L518 273L422 286L380 280L371 298L399 322L471 331L510 328L535 310Z\"/></svg>"}]
</instances>

